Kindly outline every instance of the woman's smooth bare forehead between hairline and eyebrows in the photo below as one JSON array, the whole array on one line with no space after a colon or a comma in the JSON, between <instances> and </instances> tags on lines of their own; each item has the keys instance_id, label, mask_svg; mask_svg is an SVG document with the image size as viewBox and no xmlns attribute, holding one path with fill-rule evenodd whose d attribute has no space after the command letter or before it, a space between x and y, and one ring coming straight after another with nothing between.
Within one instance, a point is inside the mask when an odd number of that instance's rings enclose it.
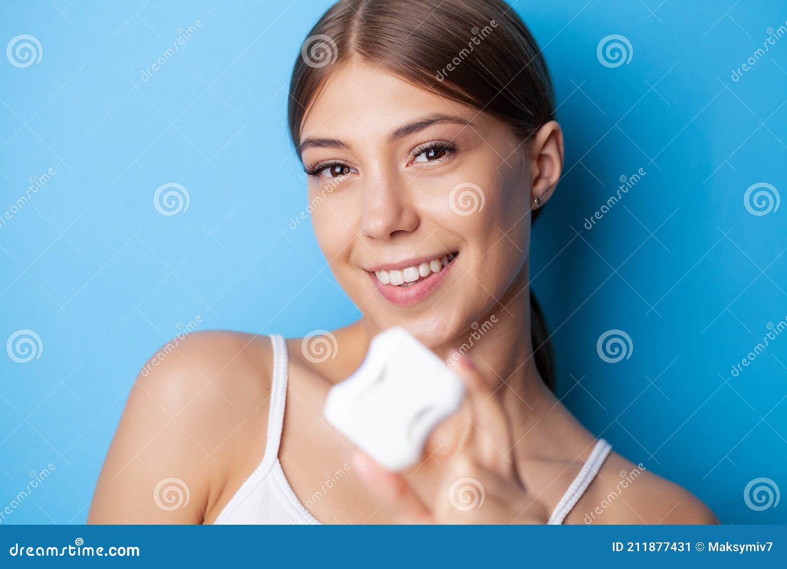
<instances>
[{"instance_id":1,"label":"woman's smooth bare forehead between hairline and eyebrows","mask_svg":"<svg viewBox=\"0 0 787 569\"><path fill-rule=\"evenodd\" d=\"M327 79L306 114L301 140L382 135L414 116L430 113L457 115L474 123L482 120L478 111L467 105L408 83L383 68L351 61Z\"/></svg>"}]
</instances>

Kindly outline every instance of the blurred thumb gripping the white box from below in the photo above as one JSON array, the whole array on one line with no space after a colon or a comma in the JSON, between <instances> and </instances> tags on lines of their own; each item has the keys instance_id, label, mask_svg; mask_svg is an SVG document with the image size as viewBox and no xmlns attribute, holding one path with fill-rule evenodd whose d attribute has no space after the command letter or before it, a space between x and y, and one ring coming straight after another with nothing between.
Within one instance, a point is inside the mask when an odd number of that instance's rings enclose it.
<instances>
[{"instance_id":1,"label":"blurred thumb gripping the white box from below","mask_svg":"<svg viewBox=\"0 0 787 569\"><path fill-rule=\"evenodd\" d=\"M351 465L371 493L394 504L401 523L434 523L429 508L416 496L404 476L386 470L362 451L353 456Z\"/></svg>"}]
</instances>

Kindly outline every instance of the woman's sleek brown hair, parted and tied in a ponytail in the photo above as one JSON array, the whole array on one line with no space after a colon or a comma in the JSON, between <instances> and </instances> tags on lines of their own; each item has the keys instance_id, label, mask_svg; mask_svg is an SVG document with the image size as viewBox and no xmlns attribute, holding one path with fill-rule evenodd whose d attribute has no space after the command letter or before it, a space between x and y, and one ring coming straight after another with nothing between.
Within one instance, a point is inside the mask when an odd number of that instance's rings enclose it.
<instances>
[{"instance_id":1,"label":"woman's sleek brown hair, parted and tied in a ponytail","mask_svg":"<svg viewBox=\"0 0 787 569\"><path fill-rule=\"evenodd\" d=\"M353 57L497 116L523 141L555 117L549 71L521 18L501 0L341 0L309 31L290 80L298 148L309 105L335 65ZM541 209L533 211L535 220ZM544 315L530 290L534 358L555 390Z\"/></svg>"}]
</instances>

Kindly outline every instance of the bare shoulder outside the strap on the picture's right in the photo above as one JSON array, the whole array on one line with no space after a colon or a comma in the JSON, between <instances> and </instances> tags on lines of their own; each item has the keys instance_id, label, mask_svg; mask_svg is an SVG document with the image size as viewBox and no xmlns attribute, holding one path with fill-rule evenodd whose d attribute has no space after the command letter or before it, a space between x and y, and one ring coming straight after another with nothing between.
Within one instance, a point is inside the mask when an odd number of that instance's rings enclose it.
<instances>
[{"instance_id":1,"label":"bare shoulder outside the strap on the picture's right","mask_svg":"<svg viewBox=\"0 0 787 569\"><path fill-rule=\"evenodd\" d=\"M570 518L574 523L718 523L689 490L614 452Z\"/></svg>"}]
</instances>

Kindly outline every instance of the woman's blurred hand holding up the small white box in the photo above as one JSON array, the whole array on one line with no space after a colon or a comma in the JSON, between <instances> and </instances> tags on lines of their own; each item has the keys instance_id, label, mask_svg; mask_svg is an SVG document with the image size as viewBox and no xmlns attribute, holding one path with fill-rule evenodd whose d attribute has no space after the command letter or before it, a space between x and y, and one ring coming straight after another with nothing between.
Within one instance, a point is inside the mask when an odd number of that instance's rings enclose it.
<instances>
[{"instance_id":1,"label":"woman's blurred hand holding up the small white box","mask_svg":"<svg viewBox=\"0 0 787 569\"><path fill-rule=\"evenodd\" d=\"M503 405L469 355L456 368L466 386L471 425L445 464L432 508L403 475L365 453L353 457L353 469L372 493L395 504L399 523L546 523L549 514L523 488L509 459L513 445Z\"/></svg>"}]
</instances>

